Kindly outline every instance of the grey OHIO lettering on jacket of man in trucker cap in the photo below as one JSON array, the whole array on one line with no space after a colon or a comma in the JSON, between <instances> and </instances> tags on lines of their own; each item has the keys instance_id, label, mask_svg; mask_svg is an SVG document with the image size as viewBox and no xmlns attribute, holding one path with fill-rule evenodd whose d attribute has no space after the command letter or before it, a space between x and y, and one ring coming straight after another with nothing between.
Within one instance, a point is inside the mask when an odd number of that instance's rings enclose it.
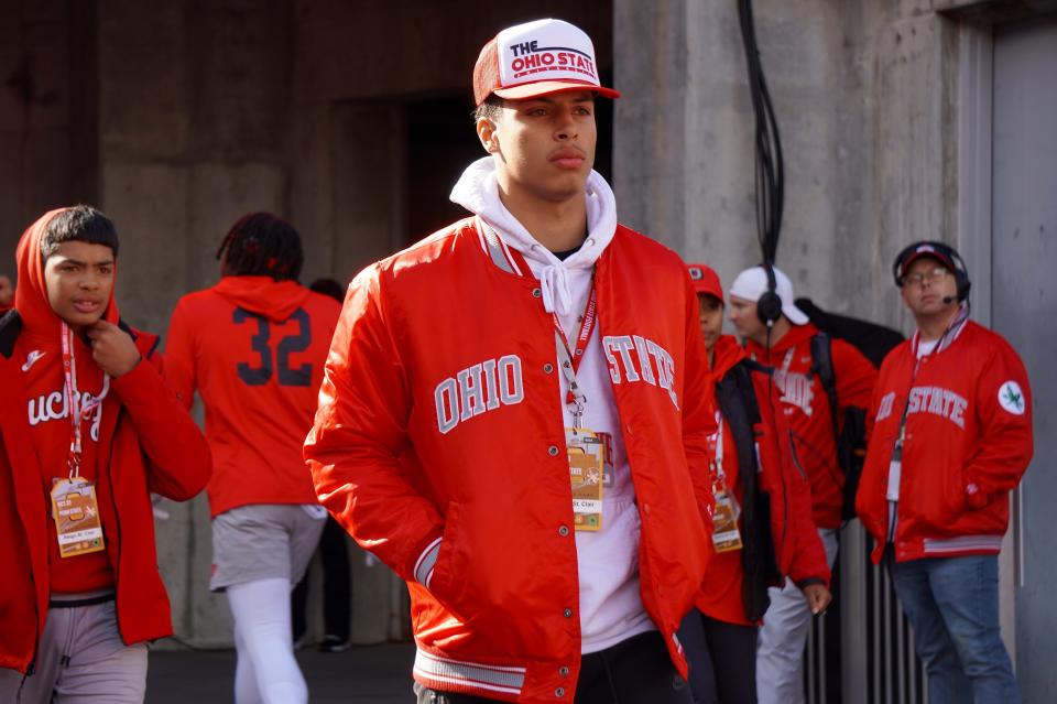
<instances>
[{"instance_id":1,"label":"grey OHIO lettering on jacket of man in trucker cap","mask_svg":"<svg viewBox=\"0 0 1057 704\"><path fill-rule=\"evenodd\" d=\"M521 403L525 398L521 358L505 355L467 367L438 383L433 398L442 435L475 415Z\"/></svg>"}]
</instances>

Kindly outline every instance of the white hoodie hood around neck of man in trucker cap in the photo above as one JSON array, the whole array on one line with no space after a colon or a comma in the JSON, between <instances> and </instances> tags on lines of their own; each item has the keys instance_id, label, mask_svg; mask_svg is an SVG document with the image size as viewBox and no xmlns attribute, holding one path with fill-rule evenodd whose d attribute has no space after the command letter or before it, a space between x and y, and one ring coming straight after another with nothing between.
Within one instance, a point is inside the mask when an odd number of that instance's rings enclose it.
<instances>
[{"instance_id":1,"label":"white hoodie hood around neck of man in trucker cap","mask_svg":"<svg viewBox=\"0 0 1057 704\"><path fill-rule=\"evenodd\" d=\"M601 174L593 170L587 176L585 188L587 239L564 261L541 245L503 205L491 156L470 164L450 197L495 230L508 247L521 252L533 275L540 279L544 307L559 315L568 314L573 307L571 272L590 271L617 231L617 198Z\"/></svg>"}]
</instances>

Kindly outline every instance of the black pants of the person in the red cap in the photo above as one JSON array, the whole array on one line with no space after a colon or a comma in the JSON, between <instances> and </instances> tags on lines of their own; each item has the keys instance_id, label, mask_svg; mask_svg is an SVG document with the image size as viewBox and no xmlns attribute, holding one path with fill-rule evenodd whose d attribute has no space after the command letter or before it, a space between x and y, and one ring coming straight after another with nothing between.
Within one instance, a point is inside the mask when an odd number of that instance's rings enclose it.
<instances>
[{"instance_id":1,"label":"black pants of the person in the red cap","mask_svg":"<svg viewBox=\"0 0 1057 704\"><path fill-rule=\"evenodd\" d=\"M755 626L738 626L696 608L683 619L679 640L690 663L694 704L756 704Z\"/></svg>"}]
</instances>

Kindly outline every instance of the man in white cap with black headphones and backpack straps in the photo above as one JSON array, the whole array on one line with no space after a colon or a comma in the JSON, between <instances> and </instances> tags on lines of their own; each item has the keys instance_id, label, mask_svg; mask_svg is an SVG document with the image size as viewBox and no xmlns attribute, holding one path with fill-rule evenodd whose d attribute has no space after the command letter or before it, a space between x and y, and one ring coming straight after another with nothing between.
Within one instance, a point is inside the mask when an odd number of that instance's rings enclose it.
<instances>
[{"instance_id":1,"label":"man in white cap with black headphones and backpack straps","mask_svg":"<svg viewBox=\"0 0 1057 704\"><path fill-rule=\"evenodd\" d=\"M811 485L811 518L818 528L830 566L837 557L841 523L843 474L837 462L837 438L831 413L842 426L844 410L865 409L878 371L862 354L841 339L831 340L837 378L837 409L829 408L826 389L811 372L811 338L818 328L796 307L793 284L774 269L775 293L782 315L769 326L758 314L758 301L769 291L763 267L738 274L730 286L730 321L745 340L749 355L775 368L774 383L782 409L793 430L795 457ZM771 591L771 608L760 631L756 683L761 704L796 704L804 701L804 643L811 613L799 589L791 582Z\"/></svg>"}]
</instances>

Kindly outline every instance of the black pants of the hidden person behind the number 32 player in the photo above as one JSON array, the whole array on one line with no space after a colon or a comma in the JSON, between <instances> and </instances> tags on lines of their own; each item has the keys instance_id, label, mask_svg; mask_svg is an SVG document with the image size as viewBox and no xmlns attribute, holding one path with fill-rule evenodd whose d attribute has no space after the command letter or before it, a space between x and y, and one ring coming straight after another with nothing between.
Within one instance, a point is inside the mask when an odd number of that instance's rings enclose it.
<instances>
[{"instance_id":1,"label":"black pants of the hidden person behind the number 32 player","mask_svg":"<svg viewBox=\"0 0 1057 704\"><path fill-rule=\"evenodd\" d=\"M352 608L352 580L349 573L349 548L345 529L327 517L327 524L323 527L319 537L319 555L323 559L323 620L326 636L336 636L346 641L349 639L349 617ZM305 619L305 602L308 598L308 571L291 593L291 619L293 621L294 640L305 635L307 622Z\"/></svg>"}]
</instances>

